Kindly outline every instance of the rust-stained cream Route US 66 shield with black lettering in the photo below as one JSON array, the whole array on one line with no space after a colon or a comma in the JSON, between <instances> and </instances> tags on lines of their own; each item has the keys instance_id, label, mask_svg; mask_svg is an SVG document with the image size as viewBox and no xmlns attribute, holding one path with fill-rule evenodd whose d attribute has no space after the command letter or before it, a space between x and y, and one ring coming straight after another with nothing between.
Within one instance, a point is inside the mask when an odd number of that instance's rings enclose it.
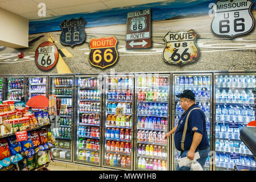
<instances>
[{"instance_id":1,"label":"rust-stained cream Route US 66 shield with black lettering","mask_svg":"<svg viewBox=\"0 0 256 182\"><path fill-rule=\"evenodd\" d=\"M199 57L199 49L196 46L197 34L193 30L188 32L168 32L164 36L166 47L163 51L163 59L171 64L185 64L196 61Z\"/></svg>"}]
</instances>

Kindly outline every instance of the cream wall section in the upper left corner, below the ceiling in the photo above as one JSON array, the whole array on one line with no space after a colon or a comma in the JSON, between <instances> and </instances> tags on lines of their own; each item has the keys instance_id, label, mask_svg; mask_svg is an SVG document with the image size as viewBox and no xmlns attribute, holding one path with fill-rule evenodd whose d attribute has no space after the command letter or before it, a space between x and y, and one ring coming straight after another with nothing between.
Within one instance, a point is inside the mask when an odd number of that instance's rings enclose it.
<instances>
[{"instance_id":1,"label":"cream wall section in the upper left corner, below the ceiling","mask_svg":"<svg viewBox=\"0 0 256 182\"><path fill-rule=\"evenodd\" d=\"M0 46L28 47L28 19L0 8Z\"/></svg>"}]
</instances>

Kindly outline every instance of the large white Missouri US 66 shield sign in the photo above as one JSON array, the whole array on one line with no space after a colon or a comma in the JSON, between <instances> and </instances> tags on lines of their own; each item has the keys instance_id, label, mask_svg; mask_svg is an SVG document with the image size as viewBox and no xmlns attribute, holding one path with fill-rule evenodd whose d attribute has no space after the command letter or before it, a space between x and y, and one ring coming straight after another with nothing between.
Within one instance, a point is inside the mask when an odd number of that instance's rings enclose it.
<instances>
[{"instance_id":1,"label":"large white Missouri US 66 shield sign","mask_svg":"<svg viewBox=\"0 0 256 182\"><path fill-rule=\"evenodd\" d=\"M254 19L250 12L252 5L251 0L218 0L212 7L212 31L232 39L247 34L254 27Z\"/></svg>"}]
</instances>

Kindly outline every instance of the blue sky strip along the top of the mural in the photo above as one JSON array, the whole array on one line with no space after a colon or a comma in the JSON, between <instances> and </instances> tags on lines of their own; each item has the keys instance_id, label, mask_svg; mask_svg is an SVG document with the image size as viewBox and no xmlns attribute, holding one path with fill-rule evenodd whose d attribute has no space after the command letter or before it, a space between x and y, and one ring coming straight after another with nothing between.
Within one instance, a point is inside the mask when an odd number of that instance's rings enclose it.
<instances>
[{"instance_id":1,"label":"blue sky strip along the top of the mural","mask_svg":"<svg viewBox=\"0 0 256 182\"><path fill-rule=\"evenodd\" d=\"M253 1L255 4L256 0ZM64 19L80 17L84 18L87 22L85 28L123 24L126 23L127 13L144 9L151 9L151 20L153 21L170 19L175 17L177 18L179 16L189 17L207 15L210 10L209 4L215 2L216 0L178 0L174 2L156 2L146 5L127 6L121 8L101 10L93 13L79 13L55 16L38 20L30 20L29 34L60 31L60 23L63 22ZM256 6L253 5L253 9L255 10Z\"/></svg>"}]
</instances>

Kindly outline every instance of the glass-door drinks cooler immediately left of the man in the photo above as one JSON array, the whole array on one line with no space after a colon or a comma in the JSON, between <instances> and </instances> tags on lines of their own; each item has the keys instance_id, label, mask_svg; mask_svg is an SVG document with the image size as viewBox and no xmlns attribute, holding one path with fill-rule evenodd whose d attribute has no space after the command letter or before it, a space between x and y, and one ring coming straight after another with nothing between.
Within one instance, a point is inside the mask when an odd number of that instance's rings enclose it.
<instances>
[{"instance_id":1,"label":"glass-door drinks cooler immediately left of the man","mask_svg":"<svg viewBox=\"0 0 256 182\"><path fill-rule=\"evenodd\" d=\"M135 170L169 170L170 74L135 75Z\"/></svg>"}]
</instances>

